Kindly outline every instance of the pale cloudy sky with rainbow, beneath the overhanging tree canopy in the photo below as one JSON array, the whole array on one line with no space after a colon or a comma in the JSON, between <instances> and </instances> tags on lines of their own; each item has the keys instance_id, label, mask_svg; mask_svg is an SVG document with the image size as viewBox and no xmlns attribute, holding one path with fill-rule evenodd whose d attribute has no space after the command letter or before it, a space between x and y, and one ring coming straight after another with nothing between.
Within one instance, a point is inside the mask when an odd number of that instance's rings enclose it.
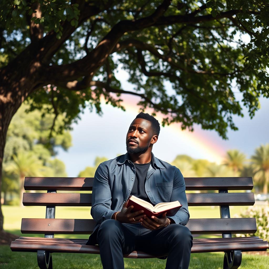
<instances>
[{"instance_id":1,"label":"pale cloudy sky with rainbow, beneath the overhanging tree canopy","mask_svg":"<svg viewBox=\"0 0 269 269\"><path fill-rule=\"evenodd\" d=\"M125 71L118 73L122 88L130 90L128 74ZM169 88L169 85L168 85ZM237 94L237 93L236 93ZM238 99L240 100L240 93ZM58 149L56 158L66 165L66 172L70 177L78 176L87 166L93 166L97 156L113 159L117 155L126 153L126 134L133 119L140 112L136 105L139 97L121 95L122 105L126 111L105 104L101 101L103 115L96 114L95 109L89 109L81 114L81 120L72 125L73 146L64 151ZM227 150L238 149L250 157L255 148L261 144L269 143L269 99L261 98L261 109L256 112L253 119L243 109L244 118L233 116L238 131L228 130L228 140L223 140L216 131L202 130L199 125L194 125L194 132L182 131L180 123L172 123L162 127L157 143L153 146L155 157L171 163L179 154L187 154L195 159L207 159L222 163ZM151 114L152 109L145 113ZM157 120L162 122L162 115L157 113ZM161 125L161 124L160 124Z\"/></svg>"}]
</instances>

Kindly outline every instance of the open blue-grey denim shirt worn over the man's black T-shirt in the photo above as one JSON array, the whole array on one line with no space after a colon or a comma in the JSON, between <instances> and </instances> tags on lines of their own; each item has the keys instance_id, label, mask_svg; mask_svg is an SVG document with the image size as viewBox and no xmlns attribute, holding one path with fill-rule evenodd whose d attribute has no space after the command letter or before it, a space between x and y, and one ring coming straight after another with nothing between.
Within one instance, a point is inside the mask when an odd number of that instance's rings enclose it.
<instances>
[{"instance_id":1,"label":"open blue-grey denim shirt worn over the man's black T-shirt","mask_svg":"<svg viewBox=\"0 0 269 269\"><path fill-rule=\"evenodd\" d=\"M103 221L111 219L115 212L121 211L128 200L135 179L135 166L128 157L126 153L104 161L95 171L91 207L91 215L97 222L94 231ZM156 158L153 153L146 174L145 191L154 205L178 200L182 207L169 218L176 224L187 224L190 214L184 178L177 167Z\"/></svg>"}]
</instances>

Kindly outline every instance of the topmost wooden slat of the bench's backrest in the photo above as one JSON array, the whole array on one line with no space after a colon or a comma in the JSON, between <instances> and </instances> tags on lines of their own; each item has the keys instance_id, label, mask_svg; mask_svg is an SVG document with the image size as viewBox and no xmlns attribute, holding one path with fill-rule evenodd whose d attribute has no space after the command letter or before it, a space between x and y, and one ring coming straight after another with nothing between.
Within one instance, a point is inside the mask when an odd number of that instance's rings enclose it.
<instances>
[{"instance_id":1,"label":"topmost wooden slat of the bench's backrest","mask_svg":"<svg viewBox=\"0 0 269 269\"><path fill-rule=\"evenodd\" d=\"M186 190L252 190L252 177L185 178ZM92 190L93 178L26 177L25 190Z\"/></svg>"}]
</instances>

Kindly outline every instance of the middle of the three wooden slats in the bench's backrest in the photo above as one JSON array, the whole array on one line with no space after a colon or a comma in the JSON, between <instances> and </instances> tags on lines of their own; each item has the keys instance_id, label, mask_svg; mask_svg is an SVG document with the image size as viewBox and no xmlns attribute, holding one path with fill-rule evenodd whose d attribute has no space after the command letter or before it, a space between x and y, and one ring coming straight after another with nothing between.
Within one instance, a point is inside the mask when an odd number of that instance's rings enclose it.
<instances>
[{"instance_id":1,"label":"middle of the three wooden slats in the bench's backrest","mask_svg":"<svg viewBox=\"0 0 269 269\"><path fill-rule=\"evenodd\" d=\"M189 206L242 206L255 203L254 193L187 193ZM24 206L91 206L91 193L24 193Z\"/></svg>"}]
</instances>

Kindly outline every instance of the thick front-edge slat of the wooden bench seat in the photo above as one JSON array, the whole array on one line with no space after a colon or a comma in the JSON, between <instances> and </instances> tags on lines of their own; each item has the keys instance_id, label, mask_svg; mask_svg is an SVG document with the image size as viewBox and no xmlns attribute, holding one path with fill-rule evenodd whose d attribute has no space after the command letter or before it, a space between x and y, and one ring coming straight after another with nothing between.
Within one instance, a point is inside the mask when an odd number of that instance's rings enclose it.
<instances>
[{"instance_id":1,"label":"thick front-edge slat of the wooden bench seat","mask_svg":"<svg viewBox=\"0 0 269 269\"><path fill-rule=\"evenodd\" d=\"M197 239L199 240L199 239ZM55 242L19 242L13 241L10 245L12 251L30 251L36 252L37 250L49 250L53 252L73 252L73 253L94 253L99 254L99 246L86 246L84 244L74 243L74 244L65 244L65 243L55 243ZM196 252L223 252L228 250L240 249L242 251L263 251L268 248L267 241L238 241L238 242L218 242L214 243L195 243L192 246L192 253ZM154 258L161 256L152 256L142 251L134 251L130 254L124 255L128 258Z\"/></svg>"}]
</instances>

